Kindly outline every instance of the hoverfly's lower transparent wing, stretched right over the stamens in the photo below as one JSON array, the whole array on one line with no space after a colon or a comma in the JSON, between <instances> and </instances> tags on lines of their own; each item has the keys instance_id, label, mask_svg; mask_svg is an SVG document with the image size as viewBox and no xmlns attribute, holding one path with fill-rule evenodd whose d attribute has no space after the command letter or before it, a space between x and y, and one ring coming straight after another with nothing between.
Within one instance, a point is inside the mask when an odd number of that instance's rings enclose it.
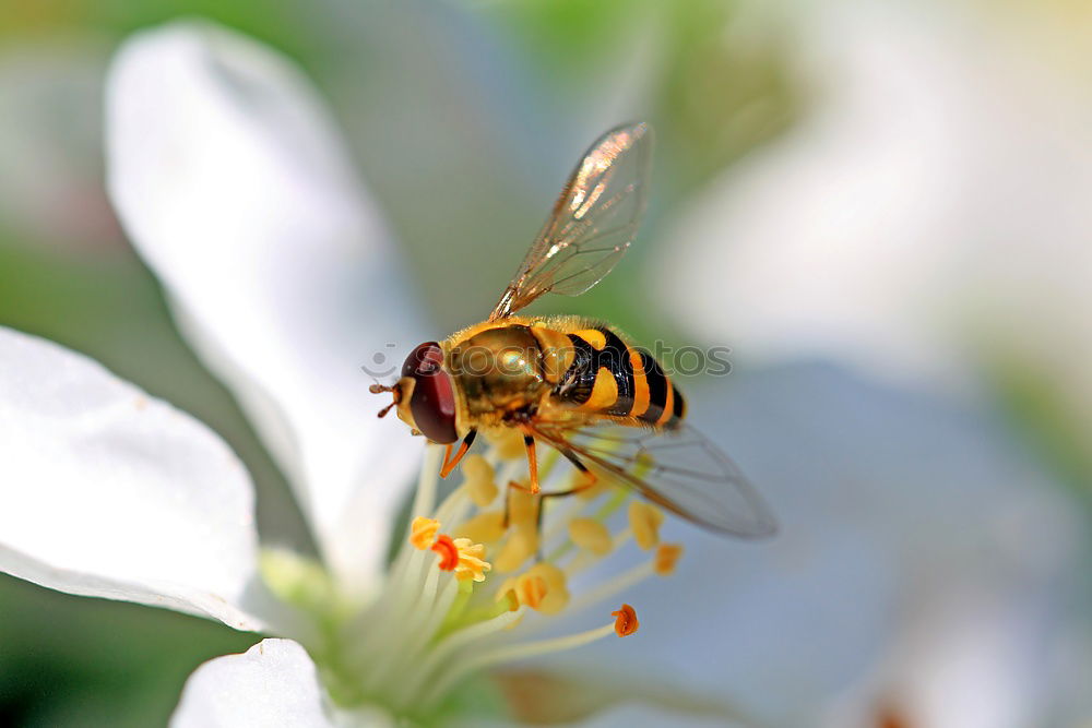
<instances>
[{"instance_id":1,"label":"hoverfly's lower transparent wing, stretched right over the stamens","mask_svg":"<svg viewBox=\"0 0 1092 728\"><path fill-rule=\"evenodd\" d=\"M778 529L769 506L736 464L689 426L656 431L613 423L572 429L543 422L535 433L700 526L744 538L772 536Z\"/></svg>"}]
</instances>

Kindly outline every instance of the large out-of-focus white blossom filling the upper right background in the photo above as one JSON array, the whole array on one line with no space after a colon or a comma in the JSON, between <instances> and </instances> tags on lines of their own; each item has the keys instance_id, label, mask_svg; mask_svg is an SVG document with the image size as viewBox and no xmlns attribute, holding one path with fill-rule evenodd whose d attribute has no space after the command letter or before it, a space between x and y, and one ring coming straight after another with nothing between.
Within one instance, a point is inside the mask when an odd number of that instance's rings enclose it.
<instances>
[{"instance_id":1,"label":"large out-of-focus white blossom filling the upper right background","mask_svg":"<svg viewBox=\"0 0 1092 728\"><path fill-rule=\"evenodd\" d=\"M665 305L738 360L966 385L983 349L1011 349L1092 401L1067 369L1080 354L1035 356L1092 349L1082 95L992 17L796 10L791 60L818 102L664 236L680 241L654 267Z\"/></svg>"}]
</instances>

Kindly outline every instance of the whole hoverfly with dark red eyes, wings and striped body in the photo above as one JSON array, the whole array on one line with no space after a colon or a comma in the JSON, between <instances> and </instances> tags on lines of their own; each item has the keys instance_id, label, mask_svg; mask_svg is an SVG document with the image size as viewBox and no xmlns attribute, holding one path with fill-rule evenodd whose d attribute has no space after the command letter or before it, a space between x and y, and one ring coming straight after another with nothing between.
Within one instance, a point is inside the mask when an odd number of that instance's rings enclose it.
<instances>
[{"instance_id":1,"label":"whole hoverfly with dark red eyes, wings and striped body","mask_svg":"<svg viewBox=\"0 0 1092 728\"><path fill-rule=\"evenodd\" d=\"M379 416L396 407L415 434L446 444L447 477L479 433L523 435L532 493L537 443L585 475L636 489L709 529L768 536L774 520L735 464L686 423L686 399L663 367L609 324L520 317L541 296L577 296L629 248L648 196L652 132L645 123L601 136L577 165L545 226L489 318L406 358ZM462 441L452 454L454 444Z\"/></svg>"}]
</instances>

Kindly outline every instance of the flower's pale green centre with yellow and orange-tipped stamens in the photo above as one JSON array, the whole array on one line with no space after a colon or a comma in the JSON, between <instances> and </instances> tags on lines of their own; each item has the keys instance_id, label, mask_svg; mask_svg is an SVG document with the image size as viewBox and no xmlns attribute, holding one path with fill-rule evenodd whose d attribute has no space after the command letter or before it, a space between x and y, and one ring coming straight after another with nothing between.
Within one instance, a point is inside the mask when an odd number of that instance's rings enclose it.
<instances>
[{"instance_id":1,"label":"flower's pale green centre with yellow and orange-tipped stamens","mask_svg":"<svg viewBox=\"0 0 1092 728\"><path fill-rule=\"evenodd\" d=\"M637 632L633 607L616 599L650 576L669 574L681 556L680 546L660 542L663 513L605 482L570 494L573 484L553 472L557 453L543 458L543 492L531 494L517 479L526 474L518 440L466 456L463 482L439 505L439 449L429 447L388 588L340 632L341 682L354 676L340 702L379 702L396 714L427 716L454 700L474 673ZM630 544L649 557L571 589L575 574ZM596 610L610 621L596 625L590 617L591 629L535 639L557 614Z\"/></svg>"}]
</instances>

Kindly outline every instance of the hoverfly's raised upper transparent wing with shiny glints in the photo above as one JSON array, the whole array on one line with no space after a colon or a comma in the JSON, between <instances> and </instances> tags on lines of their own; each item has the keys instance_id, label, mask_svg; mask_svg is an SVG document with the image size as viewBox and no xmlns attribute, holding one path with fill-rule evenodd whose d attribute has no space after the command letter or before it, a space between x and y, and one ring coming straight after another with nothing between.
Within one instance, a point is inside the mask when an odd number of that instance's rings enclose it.
<instances>
[{"instance_id":1,"label":"hoverfly's raised upper transparent wing with shiny glints","mask_svg":"<svg viewBox=\"0 0 1092 728\"><path fill-rule=\"evenodd\" d=\"M643 122L612 129L592 145L490 321L543 294L579 296L610 272L640 226L651 158L652 130Z\"/></svg>"}]
</instances>

